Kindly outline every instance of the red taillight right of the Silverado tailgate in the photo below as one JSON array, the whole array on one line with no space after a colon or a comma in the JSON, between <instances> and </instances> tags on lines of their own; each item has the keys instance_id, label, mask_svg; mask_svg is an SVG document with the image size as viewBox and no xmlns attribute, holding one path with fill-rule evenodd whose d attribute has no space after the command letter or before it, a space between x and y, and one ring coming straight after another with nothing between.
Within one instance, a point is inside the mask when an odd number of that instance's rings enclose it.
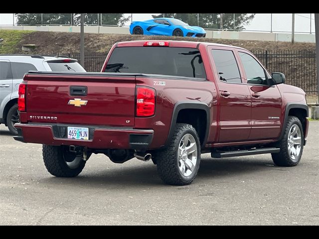
<instances>
[{"instance_id":1,"label":"red taillight right of the Silverado tailgate","mask_svg":"<svg viewBox=\"0 0 319 239\"><path fill-rule=\"evenodd\" d=\"M155 114L156 92L153 88L137 87L136 116L150 117Z\"/></svg>"}]
</instances>

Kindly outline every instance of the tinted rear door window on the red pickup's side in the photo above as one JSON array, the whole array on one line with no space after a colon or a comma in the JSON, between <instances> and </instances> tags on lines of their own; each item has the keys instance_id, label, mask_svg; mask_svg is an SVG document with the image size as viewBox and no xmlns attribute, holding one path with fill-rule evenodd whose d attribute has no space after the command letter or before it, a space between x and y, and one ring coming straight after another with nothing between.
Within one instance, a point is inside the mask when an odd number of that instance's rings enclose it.
<instances>
[{"instance_id":1,"label":"tinted rear door window on the red pickup's side","mask_svg":"<svg viewBox=\"0 0 319 239\"><path fill-rule=\"evenodd\" d=\"M219 80L241 83L241 77L234 53L229 50L212 50Z\"/></svg>"}]
</instances>

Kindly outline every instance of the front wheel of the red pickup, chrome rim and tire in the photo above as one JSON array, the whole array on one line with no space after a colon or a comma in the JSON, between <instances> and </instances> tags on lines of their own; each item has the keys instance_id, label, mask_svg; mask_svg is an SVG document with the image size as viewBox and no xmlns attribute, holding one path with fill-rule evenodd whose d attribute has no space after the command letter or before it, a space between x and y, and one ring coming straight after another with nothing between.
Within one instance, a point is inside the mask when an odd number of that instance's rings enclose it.
<instances>
[{"instance_id":1,"label":"front wheel of the red pickup, chrome rim and tire","mask_svg":"<svg viewBox=\"0 0 319 239\"><path fill-rule=\"evenodd\" d=\"M273 161L278 166L296 166L304 149L303 126L297 117L288 118L283 138L278 142L279 153L272 153Z\"/></svg>"}]
</instances>

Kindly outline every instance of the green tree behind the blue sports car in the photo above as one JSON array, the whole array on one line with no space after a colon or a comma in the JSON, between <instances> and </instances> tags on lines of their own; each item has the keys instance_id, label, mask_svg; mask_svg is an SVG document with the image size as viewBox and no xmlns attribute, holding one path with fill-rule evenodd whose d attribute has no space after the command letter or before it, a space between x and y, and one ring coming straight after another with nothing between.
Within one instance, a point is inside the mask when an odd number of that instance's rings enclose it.
<instances>
[{"instance_id":1,"label":"green tree behind the blue sports car","mask_svg":"<svg viewBox=\"0 0 319 239\"><path fill-rule=\"evenodd\" d=\"M152 15L153 18L163 17L163 13ZM165 13L165 17L174 17L189 25L197 26L197 13ZM244 25L255 17L255 13L235 13L235 30L244 30ZM199 13L199 26L220 29L220 13ZM223 29L234 29L234 13L223 13Z\"/></svg>"}]
</instances>

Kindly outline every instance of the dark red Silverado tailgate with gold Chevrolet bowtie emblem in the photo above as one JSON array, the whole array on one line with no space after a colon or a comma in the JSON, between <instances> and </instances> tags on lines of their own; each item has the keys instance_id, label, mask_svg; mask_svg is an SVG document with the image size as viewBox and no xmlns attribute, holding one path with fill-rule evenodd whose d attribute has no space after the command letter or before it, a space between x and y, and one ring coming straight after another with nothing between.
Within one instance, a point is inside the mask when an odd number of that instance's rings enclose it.
<instances>
[{"instance_id":1,"label":"dark red Silverado tailgate with gold Chevrolet bowtie emblem","mask_svg":"<svg viewBox=\"0 0 319 239\"><path fill-rule=\"evenodd\" d=\"M29 73L24 81L29 122L134 125L134 76Z\"/></svg>"}]
</instances>

